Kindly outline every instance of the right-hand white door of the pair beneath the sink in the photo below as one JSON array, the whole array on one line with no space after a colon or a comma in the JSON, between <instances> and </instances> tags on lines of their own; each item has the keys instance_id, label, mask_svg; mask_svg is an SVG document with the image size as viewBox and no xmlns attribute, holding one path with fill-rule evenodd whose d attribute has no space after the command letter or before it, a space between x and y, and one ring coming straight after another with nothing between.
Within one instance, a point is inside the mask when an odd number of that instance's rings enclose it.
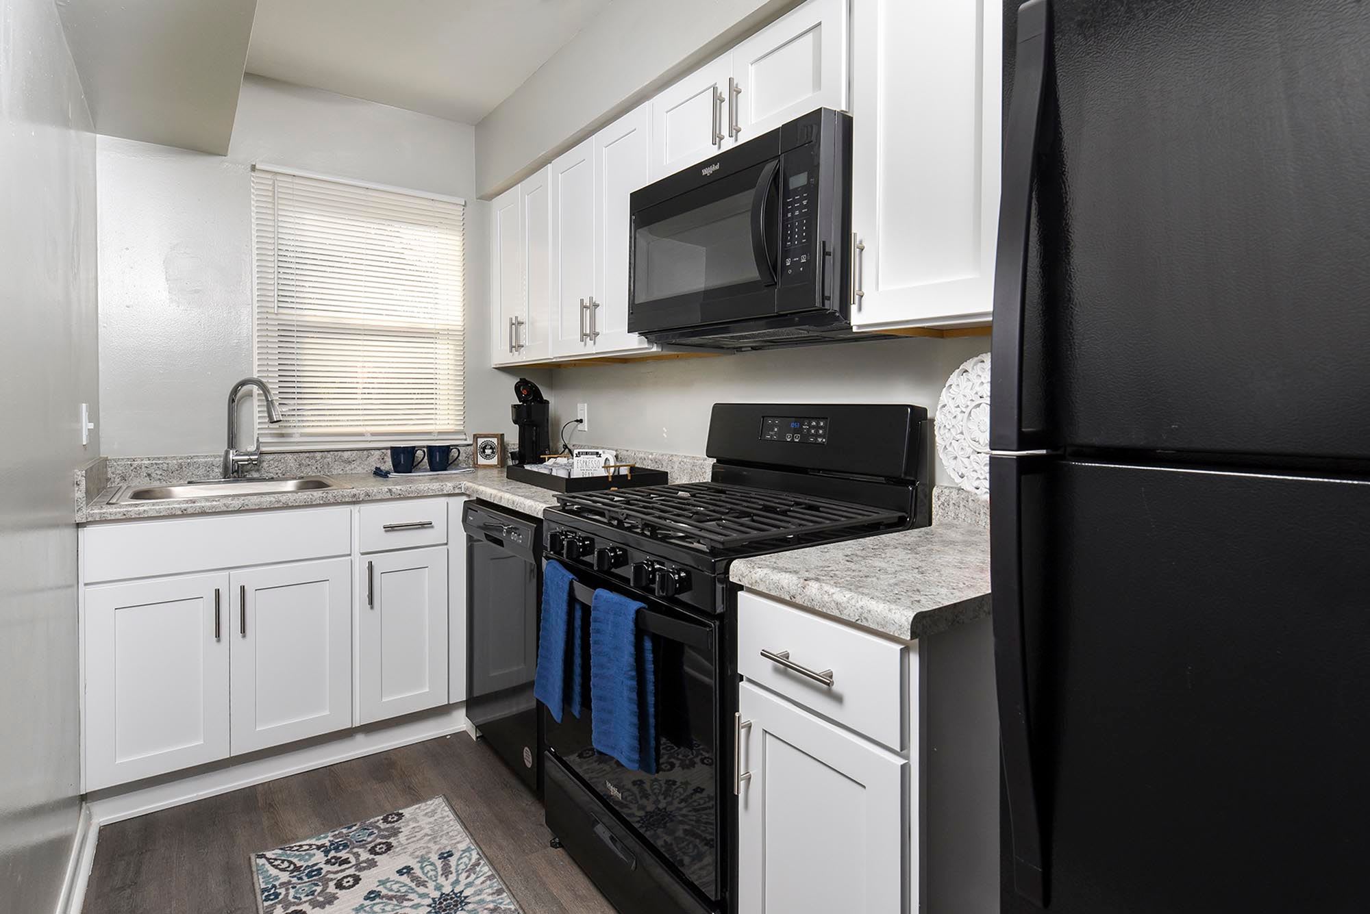
<instances>
[{"instance_id":1,"label":"right-hand white door of the pair beneath the sink","mask_svg":"<svg viewBox=\"0 0 1370 914\"><path fill-rule=\"evenodd\" d=\"M352 725L352 560L229 576L234 755Z\"/></svg>"}]
</instances>

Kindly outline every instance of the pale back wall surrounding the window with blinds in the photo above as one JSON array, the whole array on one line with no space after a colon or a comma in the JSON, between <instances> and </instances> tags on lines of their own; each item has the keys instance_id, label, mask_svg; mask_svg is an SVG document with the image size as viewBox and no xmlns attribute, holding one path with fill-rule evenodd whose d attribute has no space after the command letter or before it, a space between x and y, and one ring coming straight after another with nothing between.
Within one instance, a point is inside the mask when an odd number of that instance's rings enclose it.
<instances>
[{"instance_id":1,"label":"pale back wall surrounding the window with blinds","mask_svg":"<svg viewBox=\"0 0 1370 914\"><path fill-rule=\"evenodd\" d=\"M229 387L252 374L253 161L470 200L474 157L470 125L251 75L226 157L100 137L104 453L223 449ZM485 300L482 208L467 212L473 305ZM488 368L485 320L484 308L471 316L473 427L493 421L485 391L504 386Z\"/></svg>"}]
</instances>

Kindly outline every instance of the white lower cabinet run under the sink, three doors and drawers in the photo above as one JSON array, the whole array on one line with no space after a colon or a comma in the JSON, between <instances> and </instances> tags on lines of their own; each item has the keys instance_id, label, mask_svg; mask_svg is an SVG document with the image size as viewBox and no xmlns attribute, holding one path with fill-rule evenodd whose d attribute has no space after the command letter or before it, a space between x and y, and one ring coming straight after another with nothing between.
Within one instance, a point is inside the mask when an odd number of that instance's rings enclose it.
<instances>
[{"instance_id":1,"label":"white lower cabinet run under the sink, three doors and drawers","mask_svg":"<svg viewBox=\"0 0 1370 914\"><path fill-rule=\"evenodd\" d=\"M84 528L82 789L464 701L464 499Z\"/></svg>"}]
</instances>

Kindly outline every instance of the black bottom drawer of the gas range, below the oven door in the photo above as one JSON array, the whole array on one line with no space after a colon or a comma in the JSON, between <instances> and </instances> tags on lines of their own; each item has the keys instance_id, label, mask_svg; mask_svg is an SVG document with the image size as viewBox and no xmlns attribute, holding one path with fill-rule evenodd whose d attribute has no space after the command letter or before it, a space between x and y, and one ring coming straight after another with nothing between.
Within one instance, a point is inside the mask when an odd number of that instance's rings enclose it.
<instances>
[{"instance_id":1,"label":"black bottom drawer of the gas range, below the oven door","mask_svg":"<svg viewBox=\"0 0 1370 914\"><path fill-rule=\"evenodd\" d=\"M701 904L556 755L547 753L543 761L547 826L615 909L653 914L714 910Z\"/></svg>"}]
</instances>

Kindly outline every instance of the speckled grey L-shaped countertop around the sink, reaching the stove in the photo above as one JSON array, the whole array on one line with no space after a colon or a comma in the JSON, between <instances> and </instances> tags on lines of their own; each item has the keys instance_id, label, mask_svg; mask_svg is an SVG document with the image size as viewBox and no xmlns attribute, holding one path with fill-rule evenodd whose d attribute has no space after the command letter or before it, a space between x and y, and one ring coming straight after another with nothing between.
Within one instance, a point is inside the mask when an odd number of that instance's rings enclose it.
<instances>
[{"instance_id":1,"label":"speckled grey L-shaped countertop around the sink, reaching the stove","mask_svg":"<svg viewBox=\"0 0 1370 914\"><path fill-rule=\"evenodd\" d=\"M227 495L221 498L188 498L162 502L122 502L111 505L121 486L108 486L99 497L77 510L77 523L107 520L140 520L145 517L185 517L188 514L216 514L234 510L266 508L301 508L310 505L349 505L362 501L393 498L422 498L432 495L471 495L503 505L525 514L541 517L547 508L556 505L556 493L504 478L503 469L475 469L447 476L404 476L392 473L382 479L371 473L329 473L349 488L286 493L281 495ZM79 504L79 502L78 502Z\"/></svg>"}]
</instances>

